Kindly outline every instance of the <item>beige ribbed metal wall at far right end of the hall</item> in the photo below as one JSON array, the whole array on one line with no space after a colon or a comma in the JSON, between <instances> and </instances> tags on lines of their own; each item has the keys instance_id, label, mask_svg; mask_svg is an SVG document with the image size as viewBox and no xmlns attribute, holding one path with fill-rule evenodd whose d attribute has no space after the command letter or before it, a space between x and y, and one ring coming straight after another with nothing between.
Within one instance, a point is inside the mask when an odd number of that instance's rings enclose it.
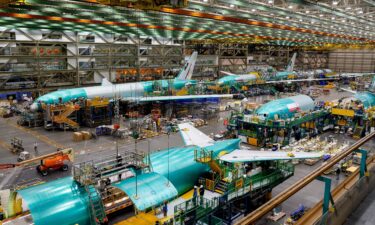
<instances>
[{"instance_id":1,"label":"beige ribbed metal wall at far right end of the hall","mask_svg":"<svg viewBox=\"0 0 375 225\"><path fill-rule=\"evenodd\" d=\"M328 68L337 72L375 72L375 49L330 51Z\"/></svg>"}]
</instances>

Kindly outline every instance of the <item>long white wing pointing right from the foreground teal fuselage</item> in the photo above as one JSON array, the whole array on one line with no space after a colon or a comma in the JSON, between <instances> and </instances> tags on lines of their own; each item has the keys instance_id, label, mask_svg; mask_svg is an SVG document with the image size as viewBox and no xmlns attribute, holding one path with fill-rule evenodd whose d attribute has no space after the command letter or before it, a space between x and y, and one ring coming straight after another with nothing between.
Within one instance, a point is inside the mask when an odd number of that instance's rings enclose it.
<instances>
[{"instance_id":1,"label":"long white wing pointing right from the foreground teal fuselage","mask_svg":"<svg viewBox=\"0 0 375 225\"><path fill-rule=\"evenodd\" d=\"M290 159L311 159L320 158L322 153L311 152L281 152L281 151L254 151L254 150L234 150L223 155L220 160L226 162L255 162L268 160L290 160Z\"/></svg>"}]
</instances>

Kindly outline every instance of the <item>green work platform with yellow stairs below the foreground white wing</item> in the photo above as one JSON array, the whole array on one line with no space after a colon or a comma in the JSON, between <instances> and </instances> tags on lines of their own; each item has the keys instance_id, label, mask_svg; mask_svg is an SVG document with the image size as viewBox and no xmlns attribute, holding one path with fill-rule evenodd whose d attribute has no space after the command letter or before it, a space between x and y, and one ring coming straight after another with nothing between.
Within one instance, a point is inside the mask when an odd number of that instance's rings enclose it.
<instances>
[{"instance_id":1,"label":"green work platform with yellow stairs below the foreground white wing","mask_svg":"<svg viewBox=\"0 0 375 225\"><path fill-rule=\"evenodd\" d=\"M247 175L243 163L224 163L218 155L205 149L195 150L195 161L207 164L210 173L200 178L205 189L220 197L189 199L175 206L175 224L231 224L238 216L249 213L270 198L272 188L294 174L290 162L267 161L255 175Z\"/></svg>"}]
</instances>

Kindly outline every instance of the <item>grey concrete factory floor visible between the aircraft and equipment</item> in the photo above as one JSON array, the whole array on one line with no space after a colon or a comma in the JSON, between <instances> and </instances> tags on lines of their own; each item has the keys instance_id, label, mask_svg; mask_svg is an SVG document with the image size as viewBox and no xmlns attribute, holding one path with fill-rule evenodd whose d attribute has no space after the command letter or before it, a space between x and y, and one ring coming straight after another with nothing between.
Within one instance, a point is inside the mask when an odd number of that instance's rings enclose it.
<instances>
[{"instance_id":1,"label":"grey concrete factory floor visible between the aircraft and equipment","mask_svg":"<svg viewBox=\"0 0 375 225\"><path fill-rule=\"evenodd\" d=\"M347 92L333 92L329 96L321 96L318 100L337 99L343 96L350 96ZM265 97L253 97L252 101L263 102L265 99L272 99L270 96ZM228 112L220 113L219 117L227 117ZM222 122L218 122L217 119L209 121L208 126L199 128L206 134L217 133L224 130ZM81 130L89 130L83 128ZM23 128L16 125L16 118L0 119L0 163L13 163L16 162L17 156L12 154L8 147L10 139L12 137L19 137L23 139L23 144L26 151L34 154L33 144L38 143L38 154L47 154L56 151L58 147L72 147L76 153L75 162L87 161L90 159L100 159L102 157L115 154L115 139L113 137L102 136L96 140L88 140L84 142L73 142L73 133L71 131L46 131L43 128ZM327 134L328 135L328 134ZM339 138L348 140L346 135L339 135ZM148 141L150 143L148 143ZM147 152L148 146L151 146L151 151L158 151L173 146L183 145L182 139L178 133L172 133L169 138L167 135L162 135L149 140L141 140L137 143L137 149L139 152ZM134 140L127 138L119 141L120 151L134 151L135 145ZM367 149L371 149L374 143L372 142ZM273 195L277 195L281 191L291 187L295 182L309 174L313 169L320 166L321 162L314 166L308 165L297 165L295 169L295 175L278 187L274 188ZM37 174L34 167L24 168L20 171L3 170L0 171L0 188L9 188L20 182L27 182L30 179L39 179L40 181L54 180L60 177L68 176L70 172L56 171L51 173L47 177L41 177ZM343 180L343 177L341 178ZM336 186L338 182L333 181L333 186ZM283 211L289 215L293 210L298 208L299 204L304 204L306 207L312 207L323 197L323 183L320 181L314 181L296 195L288 199L282 204ZM375 195L375 193L374 193ZM131 212L128 212L131 213ZM121 217L121 216L120 216ZM116 219L114 219L116 220ZM258 224L274 224L265 219L259 221Z\"/></svg>"}]
</instances>

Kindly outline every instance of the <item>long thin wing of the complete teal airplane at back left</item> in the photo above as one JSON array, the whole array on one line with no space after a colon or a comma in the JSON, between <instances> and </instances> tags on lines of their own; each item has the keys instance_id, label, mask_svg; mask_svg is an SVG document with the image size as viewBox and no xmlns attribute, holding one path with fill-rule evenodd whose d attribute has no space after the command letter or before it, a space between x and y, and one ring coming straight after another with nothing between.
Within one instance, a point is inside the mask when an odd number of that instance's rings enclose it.
<instances>
[{"instance_id":1,"label":"long thin wing of the complete teal airplane at back left","mask_svg":"<svg viewBox=\"0 0 375 225\"><path fill-rule=\"evenodd\" d=\"M175 100L189 100L189 99L204 99L204 98L233 98L231 94L224 95L179 95L179 96L150 96L150 97L129 97L122 98L122 100L135 102L151 102L151 101L175 101Z\"/></svg>"}]
</instances>

